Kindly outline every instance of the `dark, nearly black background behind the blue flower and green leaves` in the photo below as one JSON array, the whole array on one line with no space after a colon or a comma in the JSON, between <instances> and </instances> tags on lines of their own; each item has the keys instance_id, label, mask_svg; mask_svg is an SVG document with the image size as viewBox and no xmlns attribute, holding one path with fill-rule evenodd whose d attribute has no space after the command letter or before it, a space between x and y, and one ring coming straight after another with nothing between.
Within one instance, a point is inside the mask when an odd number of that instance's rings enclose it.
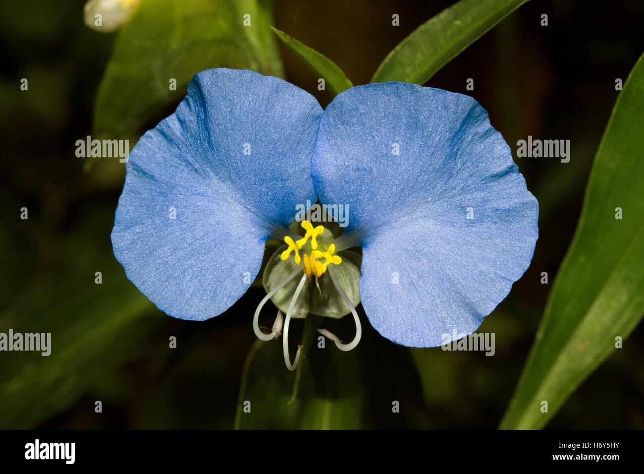
<instances>
[{"instance_id":1,"label":"dark, nearly black background behind the blue flower and green leaves","mask_svg":"<svg viewBox=\"0 0 644 474\"><path fill-rule=\"evenodd\" d=\"M395 44L451 3L282 0L276 27L363 84ZM26 394L35 400L30 415L11 427L231 428L242 366L255 339L252 312L265 293L251 288L222 315L187 322L141 302L127 281L109 242L124 173L86 172L75 157L75 141L91 134L93 101L115 39L84 26L82 6L51 0L0 6L0 331L18 331L21 324L24 331L41 331L87 317L87 331L77 334L82 339L102 314L122 311L124 304L137 317L124 323L114 341L96 341L104 344L103 357L90 374L61 379L61 387L55 384L61 393ZM401 17L397 28L391 26L393 13ZM543 13L549 15L547 27L540 26ZM644 3L636 0L534 0L426 84L473 95L513 151L527 135L570 139L571 161L516 159L540 203L540 238L524 277L481 326L497 335L495 357L395 346L370 328L359 306L365 329L357 349L361 371L367 386L379 387L365 401L371 426L498 426L571 242L592 159L618 95L615 79L625 81L644 51L643 21ZM317 91L317 76L283 44L280 50L287 80L325 106L330 95ZM28 93L19 89L22 77L29 78ZM472 92L465 88L468 78L474 79ZM162 116L156 118L148 128ZM23 206L28 221L19 219ZM105 290L112 293L96 293L104 290L93 282L99 270L117 282ZM540 284L544 271L550 284ZM32 328L26 322L42 324ZM351 324L340 321L337 331L348 333ZM178 338L175 350L167 346L171 335ZM548 427L644 428L643 336L640 326ZM21 356L0 353L0 397L3 390L19 390L7 384L13 368L24 362ZM55 377L55 369L43 377ZM404 420L390 416L388 401L401 397L413 405ZM95 400L104 404L102 415L94 412ZM0 412L12 409L0 398Z\"/></svg>"}]
</instances>

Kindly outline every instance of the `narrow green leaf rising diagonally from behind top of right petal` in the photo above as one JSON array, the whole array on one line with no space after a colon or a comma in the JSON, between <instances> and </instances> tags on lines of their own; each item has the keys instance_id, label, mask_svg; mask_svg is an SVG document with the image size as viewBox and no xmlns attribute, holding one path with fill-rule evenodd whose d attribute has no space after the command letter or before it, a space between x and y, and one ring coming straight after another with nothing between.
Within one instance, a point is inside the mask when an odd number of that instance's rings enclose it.
<instances>
[{"instance_id":1,"label":"narrow green leaf rising diagonally from behind top of right petal","mask_svg":"<svg viewBox=\"0 0 644 474\"><path fill-rule=\"evenodd\" d=\"M416 28L378 66L372 83L424 84L527 0L461 0Z\"/></svg>"}]
</instances>

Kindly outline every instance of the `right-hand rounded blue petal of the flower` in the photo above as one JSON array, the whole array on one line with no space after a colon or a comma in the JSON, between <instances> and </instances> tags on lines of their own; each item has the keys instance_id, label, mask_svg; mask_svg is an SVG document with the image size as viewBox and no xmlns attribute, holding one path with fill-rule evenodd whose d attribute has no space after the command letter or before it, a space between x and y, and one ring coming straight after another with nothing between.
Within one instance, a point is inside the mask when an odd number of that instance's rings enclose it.
<instances>
[{"instance_id":1,"label":"right-hand rounded blue petal of the flower","mask_svg":"<svg viewBox=\"0 0 644 474\"><path fill-rule=\"evenodd\" d=\"M323 114L312 175L321 202L348 204L363 307L399 344L475 331L532 259L538 203L466 95L406 83L346 90Z\"/></svg>"}]
</instances>

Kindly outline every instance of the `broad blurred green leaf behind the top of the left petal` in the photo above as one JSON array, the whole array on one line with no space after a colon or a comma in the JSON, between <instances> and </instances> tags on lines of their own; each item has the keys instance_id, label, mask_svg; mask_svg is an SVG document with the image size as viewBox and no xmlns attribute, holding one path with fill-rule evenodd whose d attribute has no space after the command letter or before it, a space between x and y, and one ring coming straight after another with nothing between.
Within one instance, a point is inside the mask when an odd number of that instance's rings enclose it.
<instances>
[{"instance_id":1,"label":"broad blurred green leaf behind the top of the left petal","mask_svg":"<svg viewBox=\"0 0 644 474\"><path fill-rule=\"evenodd\" d=\"M137 129L185 95L208 68L251 69L283 76L270 32L272 2L146 0L118 34L99 86L94 129L120 135ZM244 15L251 25L244 26ZM176 90L170 90L176 79Z\"/></svg>"}]
</instances>

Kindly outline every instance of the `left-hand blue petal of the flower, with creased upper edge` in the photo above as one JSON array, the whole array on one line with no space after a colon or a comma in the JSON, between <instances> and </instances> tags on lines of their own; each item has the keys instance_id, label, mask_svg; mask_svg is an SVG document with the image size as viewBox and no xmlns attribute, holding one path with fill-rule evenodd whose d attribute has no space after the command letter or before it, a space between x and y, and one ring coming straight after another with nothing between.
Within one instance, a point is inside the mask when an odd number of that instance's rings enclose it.
<instances>
[{"instance_id":1,"label":"left-hand blue petal of the flower, with creased upper edge","mask_svg":"<svg viewBox=\"0 0 644 474\"><path fill-rule=\"evenodd\" d=\"M321 113L281 79L211 69L138 141L111 239L160 310L202 321L243 295L266 239L294 221L296 204L316 201L310 156Z\"/></svg>"}]
</instances>

